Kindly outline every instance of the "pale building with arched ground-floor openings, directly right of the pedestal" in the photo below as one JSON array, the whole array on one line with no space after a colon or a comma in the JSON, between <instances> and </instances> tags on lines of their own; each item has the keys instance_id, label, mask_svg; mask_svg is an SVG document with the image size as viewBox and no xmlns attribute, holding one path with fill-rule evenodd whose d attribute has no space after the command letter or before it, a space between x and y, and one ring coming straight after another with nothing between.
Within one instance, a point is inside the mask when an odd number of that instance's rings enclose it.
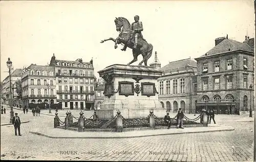
<instances>
[{"instance_id":1,"label":"pale building with arched ground-floor openings, directly right of the pedestal","mask_svg":"<svg viewBox=\"0 0 256 162\"><path fill-rule=\"evenodd\" d=\"M159 100L166 112L176 113L179 108L185 113L195 112L197 63L183 59L169 62L161 68L158 78Z\"/></svg>"}]
</instances>

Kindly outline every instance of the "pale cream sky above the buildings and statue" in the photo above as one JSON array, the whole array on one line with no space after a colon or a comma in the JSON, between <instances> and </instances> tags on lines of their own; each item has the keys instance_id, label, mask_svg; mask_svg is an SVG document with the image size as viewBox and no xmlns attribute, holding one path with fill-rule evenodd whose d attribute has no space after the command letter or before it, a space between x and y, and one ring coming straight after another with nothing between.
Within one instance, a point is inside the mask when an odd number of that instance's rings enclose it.
<instances>
[{"instance_id":1,"label":"pale cream sky above the buildings and statue","mask_svg":"<svg viewBox=\"0 0 256 162\"><path fill-rule=\"evenodd\" d=\"M1 1L1 80L13 67L47 65L53 53L57 60L89 62L94 74L112 64L133 60L132 50L114 48L115 17L134 22L139 15L143 37L153 44L161 66L198 58L215 46L215 39L228 34L243 42L254 38L253 1ZM132 65L138 65L142 56Z\"/></svg>"}]
</instances>

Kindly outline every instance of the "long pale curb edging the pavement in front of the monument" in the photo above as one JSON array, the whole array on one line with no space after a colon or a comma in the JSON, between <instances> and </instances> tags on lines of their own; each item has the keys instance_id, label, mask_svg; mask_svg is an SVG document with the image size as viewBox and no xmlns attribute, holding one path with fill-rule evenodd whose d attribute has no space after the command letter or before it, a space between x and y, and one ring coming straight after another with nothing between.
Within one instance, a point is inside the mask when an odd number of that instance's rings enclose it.
<instances>
[{"instance_id":1,"label":"long pale curb edging the pavement in front of the monument","mask_svg":"<svg viewBox=\"0 0 256 162\"><path fill-rule=\"evenodd\" d=\"M230 129L222 129L222 130L206 130L206 131L194 131L194 132L176 132L176 133L165 133L165 134L148 134L148 135L142 135L142 136L127 136L127 137L54 137L54 136L48 136L46 134L35 132L35 131L29 131L32 134L36 134L39 136L44 136L51 139L132 139L132 138L141 138L141 137L152 137L152 136L166 136L166 135L173 135L173 134L189 134L189 133L206 133L206 132L217 132L217 131L232 131L234 128Z\"/></svg>"}]
</instances>

